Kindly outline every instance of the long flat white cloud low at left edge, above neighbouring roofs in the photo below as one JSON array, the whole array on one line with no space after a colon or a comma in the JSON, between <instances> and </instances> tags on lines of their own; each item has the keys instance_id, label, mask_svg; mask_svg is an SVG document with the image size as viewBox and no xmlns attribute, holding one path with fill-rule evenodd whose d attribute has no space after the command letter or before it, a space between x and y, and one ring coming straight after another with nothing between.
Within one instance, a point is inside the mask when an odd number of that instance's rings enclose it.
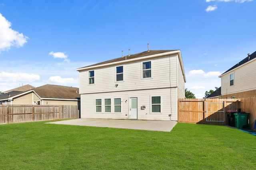
<instances>
[{"instance_id":1,"label":"long flat white cloud low at left edge, above neighbouring roofs","mask_svg":"<svg viewBox=\"0 0 256 170\"><path fill-rule=\"evenodd\" d=\"M0 72L0 82L34 82L40 80L38 74L24 72Z\"/></svg>"}]
</instances>

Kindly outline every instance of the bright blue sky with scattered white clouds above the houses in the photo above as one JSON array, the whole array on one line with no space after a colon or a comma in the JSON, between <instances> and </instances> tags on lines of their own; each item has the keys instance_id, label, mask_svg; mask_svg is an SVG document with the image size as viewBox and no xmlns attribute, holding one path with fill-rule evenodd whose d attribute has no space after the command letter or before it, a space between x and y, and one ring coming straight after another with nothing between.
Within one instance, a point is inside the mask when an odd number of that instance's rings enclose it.
<instances>
[{"instance_id":1,"label":"bright blue sky with scattered white clouds above the houses","mask_svg":"<svg viewBox=\"0 0 256 170\"><path fill-rule=\"evenodd\" d=\"M76 68L180 49L197 98L256 51L255 0L0 0L0 91L78 87Z\"/></svg>"}]
</instances>

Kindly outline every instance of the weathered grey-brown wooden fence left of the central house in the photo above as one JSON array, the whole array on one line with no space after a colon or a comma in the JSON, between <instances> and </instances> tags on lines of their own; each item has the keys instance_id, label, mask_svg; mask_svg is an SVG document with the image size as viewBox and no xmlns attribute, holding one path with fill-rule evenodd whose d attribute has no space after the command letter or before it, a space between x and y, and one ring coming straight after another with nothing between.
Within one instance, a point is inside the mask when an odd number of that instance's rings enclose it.
<instances>
[{"instance_id":1,"label":"weathered grey-brown wooden fence left of the central house","mask_svg":"<svg viewBox=\"0 0 256 170\"><path fill-rule=\"evenodd\" d=\"M0 106L0 124L79 118L74 105L6 105Z\"/></svg>"}]
</instances>

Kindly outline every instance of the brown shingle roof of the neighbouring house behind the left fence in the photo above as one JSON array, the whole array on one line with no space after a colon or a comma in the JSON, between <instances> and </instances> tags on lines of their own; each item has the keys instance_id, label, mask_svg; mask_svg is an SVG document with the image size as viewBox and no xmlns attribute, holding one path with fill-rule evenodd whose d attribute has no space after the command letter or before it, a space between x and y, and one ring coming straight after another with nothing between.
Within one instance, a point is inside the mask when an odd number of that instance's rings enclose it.
<instances>
[{"instance_id":1,"label":"brown shingle roof of the neighbouring house behind the left fence","mask_svg":"<svg viewBox=\"0 0 256 170\"><path fill-rule=\"evenodd\" d=\"M46 84L33 89L40 98L43 99L72 99L77 100L80 98L79 88L57 86Z\"/></svg>"}]
</instances>

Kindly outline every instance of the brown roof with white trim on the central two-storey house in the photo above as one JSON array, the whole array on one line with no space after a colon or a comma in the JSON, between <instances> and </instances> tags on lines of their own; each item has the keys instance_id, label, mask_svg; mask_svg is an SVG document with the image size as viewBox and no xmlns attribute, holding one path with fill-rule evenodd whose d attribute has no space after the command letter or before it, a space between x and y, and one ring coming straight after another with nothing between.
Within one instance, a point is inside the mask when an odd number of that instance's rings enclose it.
<instances>
[{"instance_id":1,"label":"brown roof with white trim on the central two-storey house","mask_svg":"<svg viewBox=\"0 0 256 170\"><path fill-rule=\"evenodd\" d=\"M172 53L173 52L173 53ZM182 74L184 76L184 81L186 82L186 76L185 76L185 71L184 71L184 66L183 66L183 61L182 61L182 56L180 53L180 50L148 50L148 51L144 51L142 53L137 53L137 54L133 54L133 55L127 55L127 56L123 56L123 57L119 57L117 59L112 59L112 60L108 60L108 61L104 61L101 63L97 63L97 64L92 64L89 66L85 66L82 68L78 68L76 69L77 71L82 71L82 70L86 70L86 69L92 69L92 68L96 68L96 67L100 67L100 66L108 66L111 64L120 64L120 63L125 63L125 62L129 62L129 61L135 61L135 60L139 60L140 57L160 57L160 56L164 56L164 55L171 55L174 53L178 53L178 58L180 61L180 65L181 65L181 69L182 69Z\"/></svg>"}]
</instances>

